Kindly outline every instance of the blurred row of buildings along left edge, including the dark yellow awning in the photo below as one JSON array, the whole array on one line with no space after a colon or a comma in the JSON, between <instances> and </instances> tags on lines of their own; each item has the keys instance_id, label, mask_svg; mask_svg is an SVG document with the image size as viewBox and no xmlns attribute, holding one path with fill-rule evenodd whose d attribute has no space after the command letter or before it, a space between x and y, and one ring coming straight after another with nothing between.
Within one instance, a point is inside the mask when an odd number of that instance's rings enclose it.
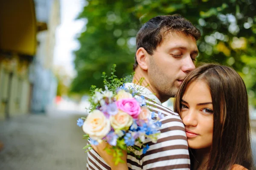
<instances>
[{"instance_id":1,"label":"blurred row of buildings along left edge, including the dark yellow awning","mask_svg":"<svg viewBox=\"0 0 256 170\"><path fill-rule=\"evenodd\" d=\"M47 8L38 12L42 5ZM59 9L59 0L0 1L0 119L41 112L51 104Z\"/></svg>"}]
</instances>

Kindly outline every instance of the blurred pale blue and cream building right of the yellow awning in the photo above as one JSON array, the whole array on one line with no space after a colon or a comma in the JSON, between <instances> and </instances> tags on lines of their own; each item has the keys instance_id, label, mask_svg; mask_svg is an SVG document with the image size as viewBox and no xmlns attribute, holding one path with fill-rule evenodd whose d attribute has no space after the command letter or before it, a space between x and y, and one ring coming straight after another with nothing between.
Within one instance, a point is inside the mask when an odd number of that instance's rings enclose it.
<instances>
[{"instance_id":1,"label":"blurred pale blue and cream building right of the yellow awning","mask_svg":"<svg viewBox=\"0 0 256 170\"><path fill-rule=\"evenodd\" d=\"M47 23L47 30L38 32L37 53L31 66L30 81L33 84L31 110L46 112L55 98L57 80L53 74L55 31L60 24L59 0L35 0L36 18Z\"/></svg>"}]
</instances>

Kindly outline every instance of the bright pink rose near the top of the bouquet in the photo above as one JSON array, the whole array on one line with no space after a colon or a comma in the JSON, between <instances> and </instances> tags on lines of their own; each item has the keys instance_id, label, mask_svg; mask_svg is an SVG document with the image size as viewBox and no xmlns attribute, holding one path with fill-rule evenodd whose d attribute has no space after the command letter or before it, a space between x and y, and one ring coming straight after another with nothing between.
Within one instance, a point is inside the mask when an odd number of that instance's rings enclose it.
<instances>
[{"instance_id":1,"label":"bright pink rose near the top of the bouquet","mask_svg":"<svg viewBox=\"0 0 256 170\"><path fill-rule=\"evenodd\" d=\"M116 101L117 108L128 113L133 118L140 114L140 104L135 98L124 98Z\"/></svg>"}]
</instances>

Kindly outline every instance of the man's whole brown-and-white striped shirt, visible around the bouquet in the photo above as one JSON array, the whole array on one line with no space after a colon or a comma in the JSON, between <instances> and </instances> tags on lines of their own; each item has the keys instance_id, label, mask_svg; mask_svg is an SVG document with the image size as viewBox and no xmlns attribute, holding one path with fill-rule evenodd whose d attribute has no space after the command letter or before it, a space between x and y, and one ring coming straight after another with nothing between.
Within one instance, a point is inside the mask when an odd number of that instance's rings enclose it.
<instances>
[{"instance_id":1,"label":"man's whole brown-and-white striped shirt, visible around the bouquet","mask_svg":"<svg viewBox=\"0 0 256 170\"><path fill-rule=\"evenodd\" d=\"M134 85L129 83L129 86ZM127 86L127 84L125 84ZM138 85L136 85L136 88ZM142 88L142 86L139 86ZM144 144L148 144L148 151L136 151L136 158L133 153L128 153L127 163L129 170L189 170L190 159L188 143L184 125L179 115L170 109L163 107L159 99L147 88L143 87L142 95L145 97L147 105L152 112L162 112L165 115L160 120L162 126L161 134L157 143L146 139ZM141 144L137 144L141 147ZM111 170L106 162L93 149L87 152L87 170Z\"/></svg>"}]
</instances>

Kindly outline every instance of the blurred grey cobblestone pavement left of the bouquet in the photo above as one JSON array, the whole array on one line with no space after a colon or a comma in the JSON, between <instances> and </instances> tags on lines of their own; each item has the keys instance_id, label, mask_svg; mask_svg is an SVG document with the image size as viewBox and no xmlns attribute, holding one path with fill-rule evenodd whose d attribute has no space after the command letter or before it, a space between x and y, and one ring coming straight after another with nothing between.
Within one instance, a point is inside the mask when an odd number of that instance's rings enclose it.
<instances>
[{"instance_id":1,"label":"blurred grey cobblestone pavement left of the bouquet","mask_svg":"<svg viewBox=\"0 0 256 170\"><path fill-rule=\"evenodd\" d=\"M0 121L0 170L85 170L79 117L62 111Z\"/></svg>"}]
</instances>

